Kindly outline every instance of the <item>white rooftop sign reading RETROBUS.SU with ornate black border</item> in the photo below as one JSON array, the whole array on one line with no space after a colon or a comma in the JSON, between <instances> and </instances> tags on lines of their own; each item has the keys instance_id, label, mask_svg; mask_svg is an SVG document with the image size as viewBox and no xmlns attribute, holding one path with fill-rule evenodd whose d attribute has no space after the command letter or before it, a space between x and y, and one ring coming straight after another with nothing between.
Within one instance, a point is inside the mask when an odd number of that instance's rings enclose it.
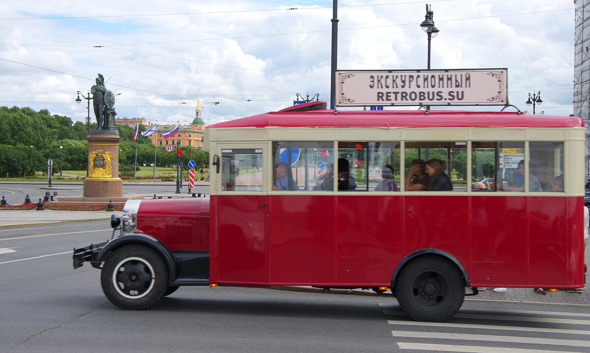
<instances>
[{"instance_id":1,"label":"white rooftop sign reading RETROBUS.SU with ornate black border","mask_svg":"<svg viewBox=\"0 0 590 353\"><path fill-rule=\"evenodd\" d=\"M506 105L506 68L336 71L336 105Z\"/></svg>"}]
</instances>

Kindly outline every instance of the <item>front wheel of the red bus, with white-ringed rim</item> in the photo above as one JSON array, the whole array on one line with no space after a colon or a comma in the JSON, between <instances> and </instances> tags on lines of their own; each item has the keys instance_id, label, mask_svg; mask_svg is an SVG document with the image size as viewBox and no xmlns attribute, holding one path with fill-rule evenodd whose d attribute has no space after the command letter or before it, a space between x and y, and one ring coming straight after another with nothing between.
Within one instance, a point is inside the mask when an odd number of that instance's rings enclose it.
<instances>
[{"instance_id":1,"label":"front wheel of the red bus, with white-ringed rim","mask_svg":"<svg viewBox=\"0 0 590 353\"><path fill-rule=\"evenodd\" d=\"M100 284L107 299L119 308L145 310L169 288L168 268L147 246L125 245L104 261Z\"/></svg>"}]
</instances>

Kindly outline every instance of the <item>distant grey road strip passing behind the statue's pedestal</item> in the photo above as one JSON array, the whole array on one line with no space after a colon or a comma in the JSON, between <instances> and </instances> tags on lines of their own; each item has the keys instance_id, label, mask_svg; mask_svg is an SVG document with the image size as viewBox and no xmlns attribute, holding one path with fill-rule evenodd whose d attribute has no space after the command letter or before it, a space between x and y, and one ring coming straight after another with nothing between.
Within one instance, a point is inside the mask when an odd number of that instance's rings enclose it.
<instances>
[{"instance_id":1,"label":"distant grey road strip passing behind the statue's pedestal","mask_svg":"<svg viewBox=\"0 0 590 353\"><path fill-rule=\"evenodd\" d=\"M161 195L175 195L175 196L190 196L188 193L187 183L181 189L180 194L176 194L176 184L150 184L149 182L142 182L137 184L124 183L123 196L125 195L143 195L146 197L153 197L153 194ZM47 187L47 184L0 184L0 197L4 196L8 204L22 204L25 196L31 198L32 202L37 202L40 198L45 196L45 192L50 192L52 195L57 192L57 199L60 196L81 196L84 193L83 186L80 185L64 185L53 183L53 186ZM191 189L194 193L209 194L209 186L196 186Z\"/></svg>"}]
</instances>

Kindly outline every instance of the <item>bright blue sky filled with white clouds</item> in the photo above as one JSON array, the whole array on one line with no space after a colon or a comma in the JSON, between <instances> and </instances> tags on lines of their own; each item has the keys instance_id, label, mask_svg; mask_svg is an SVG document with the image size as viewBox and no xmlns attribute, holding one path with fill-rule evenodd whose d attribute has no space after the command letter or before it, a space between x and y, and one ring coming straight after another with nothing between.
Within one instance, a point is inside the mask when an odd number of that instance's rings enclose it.
<instances>
[{"instance_id":1,"label":"bright blue sky filled with white clouds","mask_svg":"<svg viewBox=\"0 0 590 353\"><path fill-rule=\"evenodd\" d=\"M508 68L509 103L532 113L525 101L541 91L537 113L572 114L573 0L340 0L337 68L426 68L427 3L440 29L433 69ZM0 2L0 105L86 121L76 91L98 72L121 94L117 117L159 123L190 123L198 92L206 124L288 107L297 93L330 99L332 1L98 4Z\"/></svg>"}]
</instances>

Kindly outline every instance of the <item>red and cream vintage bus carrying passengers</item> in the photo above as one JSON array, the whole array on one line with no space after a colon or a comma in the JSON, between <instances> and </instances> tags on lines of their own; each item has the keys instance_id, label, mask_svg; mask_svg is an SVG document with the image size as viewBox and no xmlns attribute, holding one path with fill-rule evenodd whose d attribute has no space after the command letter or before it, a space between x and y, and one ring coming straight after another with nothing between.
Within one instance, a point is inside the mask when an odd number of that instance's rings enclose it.
<instances>
[{"instance_id":1,"label":"red and cream vintage bus carrying passengers","mask_svg":"<svg viewBox=\"0 0 590 353\"><path fill-rule=\"evenodd\" d=\"M445 321L477 287L584 288L578 117L313 102L208 126L205 146L210 197L142 200L133 232L75 249L114 305L181 285L389 289ZM452 190L406 190L417 159Z\"/></svg>"}]
</instances>

